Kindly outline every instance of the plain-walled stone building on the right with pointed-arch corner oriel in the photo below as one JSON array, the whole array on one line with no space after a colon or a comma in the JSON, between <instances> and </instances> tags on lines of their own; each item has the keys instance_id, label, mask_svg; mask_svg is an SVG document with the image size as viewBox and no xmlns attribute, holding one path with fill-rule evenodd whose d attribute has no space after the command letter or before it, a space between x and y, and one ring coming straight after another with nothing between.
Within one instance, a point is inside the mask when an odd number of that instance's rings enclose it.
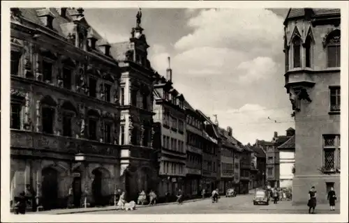
<instances>
[{"instance_id":1,"label":"plain-walled stone building on the right with pointed-arch corner oriel","mask_svg":"<svg viewBox=\"0 0 349 223\"><path fill-rule=\"evenodd\" d=\"M295 117L293 203L340 198L341 11L291 8L284 22L285 88ZM311 157L311 162L309 158Z\"/></svg>"}]
</instances>

